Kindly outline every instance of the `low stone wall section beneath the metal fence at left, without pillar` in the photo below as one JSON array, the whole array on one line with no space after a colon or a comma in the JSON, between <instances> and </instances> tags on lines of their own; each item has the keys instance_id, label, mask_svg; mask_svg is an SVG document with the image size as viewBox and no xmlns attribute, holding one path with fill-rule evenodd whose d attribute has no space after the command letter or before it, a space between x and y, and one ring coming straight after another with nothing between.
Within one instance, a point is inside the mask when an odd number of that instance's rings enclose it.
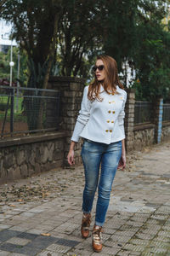
<instances>
[{"instance_id":1,"label":"low stone wall section beneath the metal fence at left, without pillar","mask_svg":"<svg viewBox=\"0 0 170 256\"><path fill-rule=\"evenodd\" d=\"M63 132L0 141L0 183L63 165Z\"/></svg>"}]
</instances>

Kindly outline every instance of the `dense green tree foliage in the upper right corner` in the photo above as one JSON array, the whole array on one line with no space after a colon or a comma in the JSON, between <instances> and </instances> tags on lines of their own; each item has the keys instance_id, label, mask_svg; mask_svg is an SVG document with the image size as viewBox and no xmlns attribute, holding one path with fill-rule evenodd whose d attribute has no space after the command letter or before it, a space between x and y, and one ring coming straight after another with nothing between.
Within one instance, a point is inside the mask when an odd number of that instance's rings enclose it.
<instances>
[{"instance_id":1,"label":"dense green tree foliage in the upper right corner","mask_svg":"<svg viewBox=\"0 0 170 256\"><path fill-rule=\"evenodd\" d=\"M152 13L148 17L143 16L139 22L140 44L133 55L133 62L140 87L134 83L133 88L140 100L150 101L156 96L166 100L170 92L170 33L161 23L164 15L161 10L162 7L152 7Z\"/></svg>"}]
</instances>

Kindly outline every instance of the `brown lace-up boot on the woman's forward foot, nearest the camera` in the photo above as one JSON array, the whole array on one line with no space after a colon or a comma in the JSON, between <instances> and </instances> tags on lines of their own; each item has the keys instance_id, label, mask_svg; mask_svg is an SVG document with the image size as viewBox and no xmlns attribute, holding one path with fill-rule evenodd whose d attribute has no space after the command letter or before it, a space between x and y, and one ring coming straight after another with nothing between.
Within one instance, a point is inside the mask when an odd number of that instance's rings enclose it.
<instances>
[{"instance_id":1,"label":"brown lace-up boot on the woman's forward foot, nearest the camera","mask_svg":"<svg viewBox=\"0 0 170 256\"><path fill-rule=\"evenodd\" d=\"M102 227L94 225L92 246L95 252L102 250Z\"/></svg>"}]
</instances>

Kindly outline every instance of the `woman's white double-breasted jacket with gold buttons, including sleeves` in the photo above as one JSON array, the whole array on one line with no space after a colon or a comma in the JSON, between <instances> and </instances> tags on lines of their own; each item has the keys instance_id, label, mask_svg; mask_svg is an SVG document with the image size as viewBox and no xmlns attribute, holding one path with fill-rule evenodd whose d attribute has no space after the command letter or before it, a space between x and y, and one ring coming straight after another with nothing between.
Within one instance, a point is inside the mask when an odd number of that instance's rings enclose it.
<instances>
[{"instance_id":1,"label":"woman's white double-breasted jacket with gold buttons, including sleeves","mask_svg":"<svg viewBox=\"0 0 170 256\"><path fill-rule=\"evenodd\" d=\"M124 117L127 92L116 85L116 93L108 94L100 86L98 100L88 99L88 87L85 86L81 110L77 117L71 141L78 142L80 137L97 143L115 143L125 138Z\"/></svg>"}]
</instances>

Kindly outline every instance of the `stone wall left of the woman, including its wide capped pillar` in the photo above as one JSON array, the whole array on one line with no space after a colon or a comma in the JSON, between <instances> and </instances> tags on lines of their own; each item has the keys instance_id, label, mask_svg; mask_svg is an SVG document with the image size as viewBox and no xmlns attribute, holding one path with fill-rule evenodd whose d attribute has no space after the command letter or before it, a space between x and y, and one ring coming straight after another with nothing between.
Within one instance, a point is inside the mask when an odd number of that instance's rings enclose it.
<instances>
[{"instance_id":1,"label":"stone wall left of the woman, including its wide capped pillar","mask_svg":"<svg viewBox=\"0 0 170 256\"><path fill-rule=\"evenodd\" d=\"M54 77L49 79L48 89L56 90L54 102L48 101L46 125L55 124L52 133L26 137L3 138L0 141L0 183L28 177L59 166L67 166L66 156L71 143L78 111L81 108L85 80ZM51 92L52 93L52 92ZM48 96L53 96L48 92ZM56 96L59 106L56 105ZM54 105L54 106L53 106ZM75 147L75 162L82 163L82 140Z\"/></svg>"}]
</instances>

